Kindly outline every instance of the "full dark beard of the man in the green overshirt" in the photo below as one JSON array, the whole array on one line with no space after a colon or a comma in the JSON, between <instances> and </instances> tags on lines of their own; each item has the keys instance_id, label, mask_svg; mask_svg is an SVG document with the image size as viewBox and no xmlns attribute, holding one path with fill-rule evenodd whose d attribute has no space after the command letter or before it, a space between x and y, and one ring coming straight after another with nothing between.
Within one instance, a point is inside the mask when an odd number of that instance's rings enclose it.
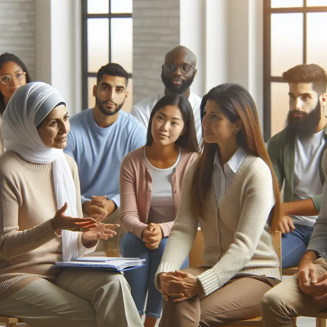
<instances>
[{"instance_id":1,"label":"full dark beard of the man in the green overshirt","mask_svg":"<svg viewBox=\"0 0 327 327\"><path fill-rule=\"evenodd\" d=\"M286 134L290 139L298 136L300 139L308 138L316 133L321 118L320 104L311 112L302 112L301 118L294 117L296 110L290 111L287 116Z\"/></svg>"}]
</instances>

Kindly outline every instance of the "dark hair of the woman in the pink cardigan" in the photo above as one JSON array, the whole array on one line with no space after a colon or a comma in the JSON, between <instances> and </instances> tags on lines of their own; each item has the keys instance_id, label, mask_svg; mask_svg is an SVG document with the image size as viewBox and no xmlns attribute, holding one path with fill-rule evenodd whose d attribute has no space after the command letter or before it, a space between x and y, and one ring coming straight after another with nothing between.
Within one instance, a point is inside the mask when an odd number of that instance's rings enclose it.
<instances>
[{"instance_id":1,"label":"dark hair of the woman in the pink cardigan","mask_svg":"<svg viewBox=\"0 0 327 327\"><path fill-rule=\"evenodd\" d=\"M189 150L192 152L198 152L199 145L198 145L198 140L196 138L192 106L191 106L188 98L186 98L183 95L178 95L178 94L170 94L168 96L165 96L165 97L161 98L154 105L154 107L151 111L151 114L150 114L146 145L152 145L152 142L153 142L151 128L152 128L152 120L153 120L155 113L162 107L169 106L169 105L178 106L180 113L182 114L183 121L184 121L184 128L186 128L183 135L180 135L176 139L175 144L180 146L183 149L186 149L186 150Z\"/></svg>"}]
</instances>

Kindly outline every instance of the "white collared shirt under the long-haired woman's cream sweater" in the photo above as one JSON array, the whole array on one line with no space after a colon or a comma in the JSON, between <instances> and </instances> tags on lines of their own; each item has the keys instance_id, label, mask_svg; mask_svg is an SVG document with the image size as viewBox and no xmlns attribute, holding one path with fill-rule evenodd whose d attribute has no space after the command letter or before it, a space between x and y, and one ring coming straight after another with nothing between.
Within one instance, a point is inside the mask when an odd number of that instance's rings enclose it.
<instances>
[{"instance_id":1,"label":"white collared shirt under the long-haired woman's cream sweater","mask_svg":"<svg viewBox=\"0 0 327 327\"><path fill-rule=\"evenodd\" d=\"M214 187L218 207L221 200L225 196L232 178L235 176L246 155L247 152L243 148L239 147L233 156L226 162L223 171L220 165L218 152L216 152L214 161Z\"/></svg>"}]
</instances>

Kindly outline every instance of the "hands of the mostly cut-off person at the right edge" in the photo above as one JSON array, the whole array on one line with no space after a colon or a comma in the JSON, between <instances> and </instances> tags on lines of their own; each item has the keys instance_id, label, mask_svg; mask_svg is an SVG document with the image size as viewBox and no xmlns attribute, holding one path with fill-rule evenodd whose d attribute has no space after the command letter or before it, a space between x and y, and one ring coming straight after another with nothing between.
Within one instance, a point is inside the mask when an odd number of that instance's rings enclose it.
<instances>
[{"instance_id":1,"label":"hands of the mostly cut-off person at the right edge","mask_svg":"<svg viewBox=\"0 0 327 327\"><path fill-rule=\"evenodd\" d=\"M327 272L317 277L313 263L299 267L297 273L300 290L317 302L327 305ZM310 278L310 279L309 279Z\"/></svg>"}]
</instances>

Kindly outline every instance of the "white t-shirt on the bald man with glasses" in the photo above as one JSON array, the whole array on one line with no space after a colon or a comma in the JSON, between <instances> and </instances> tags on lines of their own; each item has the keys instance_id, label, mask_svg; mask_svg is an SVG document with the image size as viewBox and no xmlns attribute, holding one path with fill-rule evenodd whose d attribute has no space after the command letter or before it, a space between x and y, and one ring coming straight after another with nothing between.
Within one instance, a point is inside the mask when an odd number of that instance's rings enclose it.
<instances>
[{"instance_id":1,"label":"white t-shirt on the bald man with glasses","mask_svg":"<svg viewBox=\"0 0 327 327\"><path fill-rule=\"evenodd\" d=\"M131 110L131 114L140 123L142 123L145 126L145 128L148 128L151 111L152 111L154 105L164 96L165 96L165 92L160 91L155 96L148 97L148 98L134 104L132 107L132 110ZM190 104L193 109L196 136L198 139L198 143L200 145L201 138L202 138L200 105L201 105L202 99L199 96L197 96L195 93L190 91L189 101L190 101Z\"/></svg>"}]
</instances>

